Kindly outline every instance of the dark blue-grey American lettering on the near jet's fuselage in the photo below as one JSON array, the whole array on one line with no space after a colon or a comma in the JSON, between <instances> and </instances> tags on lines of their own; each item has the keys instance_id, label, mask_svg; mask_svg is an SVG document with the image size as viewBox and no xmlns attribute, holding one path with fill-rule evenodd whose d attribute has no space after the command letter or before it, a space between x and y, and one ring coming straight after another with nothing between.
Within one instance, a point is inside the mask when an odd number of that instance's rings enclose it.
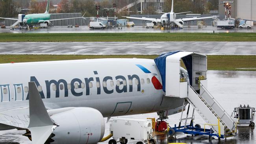
<instances>
[{"instance_id":1,"label":"dark blue-grey American lettering on the near jet's fuselage","mask_svg":"<svg viewBox=\"0 0 256 144\"><path fill-rule=\"evenodd\" d=\"M98 72L97 72L97 71L94 71L94 74L97 75ZM124 76L121 76L121 75L115 76L115 80L116 80L116 81L117 81L117 80L120 81L120 84L119 84L119 85L115 85L115 91L116 91L117 93L127 92L127 85L129 85L129 92L132 92L132 91L133 91L133 85L132 85L132 84L129 84L129 81L132 81L133 79L136 79L136 81L137 81L137 83L136 83L136 85L137 85L137 91L141 91L141 81L140 81L139 76L137 76L136 74L128 75L128 83L127 83L126 78L125 78ZM104 90L104 92L105 92L106 94L112 94L112 93L114 92L114 88L113 88L113 89L108 89L108 88L106 87L106 83L107 83L108 80L113 81L113 77L111 77L111 76L105 76L102 81L100 81L100 78L99 78L99 77L95 77L95 78L93 78L93 77L91 77L91 78L84 78L83 80L78 79L78 78L74 78L74 79L72 79L71 82L70 82L70 86L71 86L70 89L68 89L68 83L67 83L67 81L66 81L65 79L59 79L58 81L57 81L57 80L54 80L54 79L52 79L52 80L50 80L50 81L49 81L49 80L46 80L46 81L45 81L45 85L46 85L46 96L45 96L45 93L43 92L43 90L40 91L39 93L40 93L40 95L41 95L41 98L51 98L51 85L54 84L54 85L56 85L56 90L55 90L55 91L56 91L56 94L55 94L55 95L56 95L56 98L59 98L59 91L60 91L59 88L60 88L60 84L62 84L62 85L63 85L63 89L64 89L64 96L65 96L65 97L68 97L68 96L69 96L69 91L68 91L68 90L70 90L70 92L72 93L73 96L82 96L82 95L83 95L83 92L76 92L76 89L81 89L81 88L82 88L82 83L83 83L83 81L84 81L84 82L85 82L85 83L84 83L84 88L85 88L85 90L86 90L85 95L88 96L88 95L90 95L90 86L89 86L89 83L92 82L92 81L94 81L94 82L96 82L96 83L98 84L97 90L96 90L97 94L100 94L100 93L101 93L101 88L102 88L102 87L101 87L101 84L103 85L103 90ZM30 77L30 81L34 81L35 84L37 85L37 87L38 87L39 85L41 85L41 84L38 82L37 78L35 78L35 76L31 76L31 77ZM101 82L102 82L102 83L101 83ZM75 88L75 83L78 83L78 88ZM105 83L105 85L104 85L104 83ZM122 85L122 88L120 88L121 85ZM29 99L29 95L27 95L26 100L28 100L28 99Z\"/></svg>"}]
</instances>

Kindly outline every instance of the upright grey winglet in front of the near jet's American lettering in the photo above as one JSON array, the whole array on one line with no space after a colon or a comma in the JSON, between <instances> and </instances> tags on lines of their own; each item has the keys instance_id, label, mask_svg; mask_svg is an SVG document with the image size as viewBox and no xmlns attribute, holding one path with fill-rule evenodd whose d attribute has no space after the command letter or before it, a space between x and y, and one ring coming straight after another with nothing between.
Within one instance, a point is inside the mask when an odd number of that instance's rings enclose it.
<instances>
[{"instance_id":1,"label":"upright grey winglet in front of the near jet's American lettering","mask_svg":"<svg viewBox=\"0 0 256 144\"><path fill-rule=\"evenodd\" d=\"M45 141L58 125L48 115L35 82L29 82L28 87L30 111L28 129L31 131L32 144L45 144Z\"/></svg>"}]
</instances>

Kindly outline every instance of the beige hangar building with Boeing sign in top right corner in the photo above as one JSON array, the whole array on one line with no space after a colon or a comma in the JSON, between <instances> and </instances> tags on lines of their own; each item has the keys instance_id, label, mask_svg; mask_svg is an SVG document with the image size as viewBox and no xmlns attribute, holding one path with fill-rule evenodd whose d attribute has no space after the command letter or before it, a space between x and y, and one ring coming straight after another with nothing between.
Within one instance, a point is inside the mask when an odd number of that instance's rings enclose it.
<instances>
[{"instance_id":1,"label":"beige hangar building with Boeing sign in top right corner","mask_svg":"<svg viewBox=\"0 0 256 144\"><path fill-rule=\"evenodd\" d=\"M256 0L219 0L219 15L225 15L225 3L231 6L232 18L256 20Z\"/></svg>"}]
</instances>

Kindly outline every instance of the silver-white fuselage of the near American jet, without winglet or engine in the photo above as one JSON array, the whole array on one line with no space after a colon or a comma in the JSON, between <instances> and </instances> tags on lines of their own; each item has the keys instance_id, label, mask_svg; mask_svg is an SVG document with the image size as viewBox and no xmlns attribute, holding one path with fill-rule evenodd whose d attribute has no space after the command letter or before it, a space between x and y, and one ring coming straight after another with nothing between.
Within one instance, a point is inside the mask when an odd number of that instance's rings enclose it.
<instances>
[{"instance_id":1,"label":"silver-white fuselage of the near American jet, without winglet or engine","mask_svg":"<svg viewBox=\"0 0 256 144\"><path fill-rule=\"evenodd\" d=\"M35 81L46 109L92 107L107 117L165 111L183 103L156 89L152 78L161 83L161 77L152 59L9 63L0 70L4 109L28 106L29 81Z\"/></svg>"}]
</instances>

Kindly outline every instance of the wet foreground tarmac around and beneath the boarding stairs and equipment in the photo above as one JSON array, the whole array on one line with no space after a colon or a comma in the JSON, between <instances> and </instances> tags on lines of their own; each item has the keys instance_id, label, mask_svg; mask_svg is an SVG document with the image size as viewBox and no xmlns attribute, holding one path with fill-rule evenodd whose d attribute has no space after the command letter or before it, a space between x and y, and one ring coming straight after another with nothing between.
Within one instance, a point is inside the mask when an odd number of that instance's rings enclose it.
<instances>
[{"instance_id":1,"label":"wet foreground tarmac around and beneath the boarding stairs and equipment","mask_svg":"<svg viewBox=\"0 0 256 144\"><path fill-rule=\"evenodd\" d=\"M256 107L256 71L208 71L208 90L228 114L232 114L234 107L240 104L249 104ZM191 115L192 109L189 114ZM128 118L158 118L156 113L122 116ZM169 116L167 122L170 126L178 124L180 113ZM105 118L106 120L106 118ZM111 120L109 121L111 122ZM195 113L195 123L203 126L204 120ZM32 144L28 138L23 137L25 131L0 131L0 144ZM109 123L106 124L105 136L109 134ZM177 133L176 137L169 137L165 133L156 136L157 144L168 144L170 142L184 142L190 144L208 144L208 136L191 137L183 133ZM128 140L128 144L136 144L136 140ZM254 128L239 126L237 136L226 140L212 139L212 144L255 144L256 135ZM108 144L108 141L101 144Z\"/></svg>"}]
</instances>

